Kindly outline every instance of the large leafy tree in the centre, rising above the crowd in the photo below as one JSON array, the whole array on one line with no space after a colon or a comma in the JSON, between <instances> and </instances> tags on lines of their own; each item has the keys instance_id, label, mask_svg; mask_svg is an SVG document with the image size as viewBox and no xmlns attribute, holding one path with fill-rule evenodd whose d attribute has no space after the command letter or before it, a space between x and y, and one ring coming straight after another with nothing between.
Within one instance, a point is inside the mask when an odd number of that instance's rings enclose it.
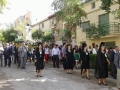
<instances>
[{"instance_id":1,"label":"large leafy tree in the centre, rising above the crowd","mask_svg":"<svg viewBox=\"0 0 120 90\"><path fill-rule=\"evenodd\" d=\"M52 7L56 11L56 20L65 21L70 31L75 32L76 26L80 26L86 17L82 0L54 0Z\"/></svg>"}]
</instances>

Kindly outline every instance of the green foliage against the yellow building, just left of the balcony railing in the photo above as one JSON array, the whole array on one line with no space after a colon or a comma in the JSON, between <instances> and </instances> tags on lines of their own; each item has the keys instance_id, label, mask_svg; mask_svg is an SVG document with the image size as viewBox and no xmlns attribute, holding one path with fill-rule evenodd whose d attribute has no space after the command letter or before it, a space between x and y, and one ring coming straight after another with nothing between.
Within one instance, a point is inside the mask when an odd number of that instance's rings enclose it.
<instances>
[{"instance_id":1,"label":"green foliage against the yellow building, just left of the balcony railing","mask_svg":"<svg viewBox=\"0 0 120 90\"><path fill-rule=\"evenodd\" d=\"M95 23L90 24L90 28L86 29L87 38L90 39L99 39L108 34L106 30L106 24L98 24Z\"/></svg>"}]
</instances>

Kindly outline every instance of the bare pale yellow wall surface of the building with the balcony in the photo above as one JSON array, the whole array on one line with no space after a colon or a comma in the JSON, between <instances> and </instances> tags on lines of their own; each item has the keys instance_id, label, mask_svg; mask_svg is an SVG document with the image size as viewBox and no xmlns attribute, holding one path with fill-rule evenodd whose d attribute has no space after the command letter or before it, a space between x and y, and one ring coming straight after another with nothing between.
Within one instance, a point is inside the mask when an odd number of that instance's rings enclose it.
<instances>
[{"instance_id":1,"label":"bare pale yellow wall surface of the building with the balcony","mask_svg":"<svg viewBox=\"0 0 120 90\"><path fill-rule=\"evenodd\" d=\"M96 7L94 9L92 9L92 7L91 7L92 2L87 3L84 7L84 10L87 13L87 19L85 19L85 21L90 21L90 23L98 23L99 22L99 15L105 14L106 12L104 10L99 9L99 7L101 5L100 0L95 2ZM111 6L111 10L115 10L118 7L119 6L117 4L114 4L114 5ZM118 20L114 19L113 14L109 14L109 21L110 22L118 22ZM80 42L84 42L84 41L86 41L86 43L88 45L92 45L92 43L99 44L100 42L116 41L116 45L120 46L120 42L119 42L120 41L120 36L103 38L103 39L100 39L99 42L98 42L98 40L87 39L86 38L86 32L82 31L82 27L77 27L77 30L76 30L76 43L77 43L77 45L80 45Z\"/></svg>"}]
</instances>

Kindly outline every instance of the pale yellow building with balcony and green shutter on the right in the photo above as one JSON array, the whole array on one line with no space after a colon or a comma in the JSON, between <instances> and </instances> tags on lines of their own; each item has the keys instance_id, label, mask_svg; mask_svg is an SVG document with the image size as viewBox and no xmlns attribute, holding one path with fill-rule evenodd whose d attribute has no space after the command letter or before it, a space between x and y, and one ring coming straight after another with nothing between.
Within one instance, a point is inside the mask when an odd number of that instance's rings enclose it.
<instances>
[{"instance_id":1,"label":"pale yellow building with balcony and green shutter on the right","mask_svg":"<svg viewBox=\"0 0 120 90\"><path fill-rule=\"evenodd\" d=\"M113 47L115 45L120 46L120 24L115 19L115 16L111 13L106 13L105 10L100 9L100 0L87 0L84 5L84 10L87 13L87 18L82 24L82 27L76 29L76 43L81 46L82 43L87 43L88 46L99 45L100 42L105 42L107 47ZM119 5L114 3L111 6L111 10L116 10ZM86 29L90 27L90 23L107 23L108 28L106 29L108 34L100 39L89 39L87 38Z\"/></svg>"}]
</instances>

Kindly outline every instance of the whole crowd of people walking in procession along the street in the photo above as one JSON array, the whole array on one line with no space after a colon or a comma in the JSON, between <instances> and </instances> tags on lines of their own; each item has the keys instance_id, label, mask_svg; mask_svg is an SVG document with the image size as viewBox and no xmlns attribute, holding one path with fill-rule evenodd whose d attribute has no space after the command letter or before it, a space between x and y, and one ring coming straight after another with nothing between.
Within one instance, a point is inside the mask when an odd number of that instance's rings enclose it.
<instances>
[{"instance_id":1,"label":"whole crowd of people walking in procession along the street","mask_svg":"<svg viewBox=\"0 0 120 90\"><path fill-rule=\"evenodd\" d=\"M58 46L46 45L38 43L36 48L28 49L25 43L21 43L19 47L16 47L14 43L4 44L3 47L0 45L0 64L3 65L4 56L4 67L8 65L11 67L11 61L14 64L18 63L17 68L26 69L26 62L35 62L36 66L36 77L42 77L42 70L45 67L45 63L53 61L53 68L60 68L60 64L63 63L63 68L66 70L66 74L72 74L73 69L79 69L81 67L81 77L90 80L89 69L90 69L90 54L97 54L96 57L96 68L94 76L98 78L99 85L107 86L106 78L108 77L108 65L111 65L112 71L110 75L116 79L117 87L120 88L120 51L119 47L115 46L109 50L106 48L105 43L87 47L86 43L82 46L72 47L71 44L63 43ZM110 58L108 58L110 54ZM110 59L110 60L109 60ZM80 66L79 66L80 64ZM84 75L86 73L86 75ZM120 89L119 89L120 90Z\"/></svg>"}]
</instances>

